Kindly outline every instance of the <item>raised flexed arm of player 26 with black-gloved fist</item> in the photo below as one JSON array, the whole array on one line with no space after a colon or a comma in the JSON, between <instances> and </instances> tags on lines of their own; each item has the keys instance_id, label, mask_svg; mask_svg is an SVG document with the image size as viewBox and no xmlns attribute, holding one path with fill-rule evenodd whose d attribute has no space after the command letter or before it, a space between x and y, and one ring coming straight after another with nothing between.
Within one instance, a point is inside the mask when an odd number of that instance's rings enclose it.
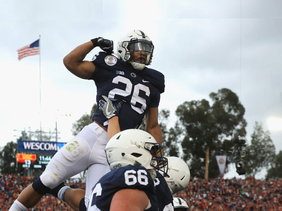
<instances>
[{"instance_id":1,"label":"raised flexed arm of player 26 with black-gloved fist","mask_svg":"<svg viewBox=\"0 0 282 211\"><path fill-rule=\"evenodd\" d=\"M97 46L106 52L113 51L113 41L98 37L70 51L63 59L65 67L77 77L89 79L95 70L95 65L90 61L83 61L83 59Z\"/></svg>"}]
</instances>

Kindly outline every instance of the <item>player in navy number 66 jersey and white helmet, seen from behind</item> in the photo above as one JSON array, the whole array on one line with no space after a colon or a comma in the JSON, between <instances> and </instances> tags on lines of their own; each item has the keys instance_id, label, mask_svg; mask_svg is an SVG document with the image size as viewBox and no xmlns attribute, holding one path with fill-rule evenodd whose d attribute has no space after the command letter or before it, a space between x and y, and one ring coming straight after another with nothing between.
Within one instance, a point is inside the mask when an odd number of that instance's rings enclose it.
<instances>
[{"instance_id":1,"label":"player in navy number 66 jersey and white helmet, seen from behind","mask_svg":"<svg viewBox=\"0 0 282 211\"><path fill-rule=\"evenodd\" d=\"M153 179L155 169L161 170L159 164L167 163L157 156L161 149L145 131L129 129L114 135L105 148L111 172L92 188L87 211L158 210Z\"/></svg>"}]
</instances>

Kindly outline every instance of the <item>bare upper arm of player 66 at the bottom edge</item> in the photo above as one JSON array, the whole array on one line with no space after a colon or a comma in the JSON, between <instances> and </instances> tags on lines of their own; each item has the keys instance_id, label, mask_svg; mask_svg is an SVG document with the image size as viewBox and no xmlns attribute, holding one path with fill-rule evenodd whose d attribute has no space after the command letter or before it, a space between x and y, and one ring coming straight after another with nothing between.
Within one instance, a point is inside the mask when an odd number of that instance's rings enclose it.
<instances>
[{"instance_id":1,"label":"bare upper arm of player 66 at the bottom edge","mask_svg":"<svg viewBox=\"0 0 282 211\"><path fill-rule=\"evenodd\" d=\"M114 194L110 211L144 211L149 202L149 198L143 190L122 189Z\"/></svg>"}]
</instances>

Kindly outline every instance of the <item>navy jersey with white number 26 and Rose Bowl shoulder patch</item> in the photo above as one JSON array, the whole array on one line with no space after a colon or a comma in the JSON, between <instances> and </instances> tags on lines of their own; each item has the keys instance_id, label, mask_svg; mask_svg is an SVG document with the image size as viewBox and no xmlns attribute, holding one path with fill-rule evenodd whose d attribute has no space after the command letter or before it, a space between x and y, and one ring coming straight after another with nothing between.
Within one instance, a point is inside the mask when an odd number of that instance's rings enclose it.
<instances>
[{"instance_id":1,"label":"navy jersey with white number 26 and Rose Bowl shoulder patch","mask_svg":"<svg viewBox=\"0 0 282 211\"><path fill-rule=\"evenodd\" d=\"M148 108L158 107L160 93L164 92L164 75L145 67L135 70L131 64L118 59L113 54L99 52L91 60L95 70L89 78L97 87L96 102L104 100L123 100L120 110L120 129L134 129L141 124ZM92 120L107 127L107 118L97 107Z\"/></svg>"}]
</instances>

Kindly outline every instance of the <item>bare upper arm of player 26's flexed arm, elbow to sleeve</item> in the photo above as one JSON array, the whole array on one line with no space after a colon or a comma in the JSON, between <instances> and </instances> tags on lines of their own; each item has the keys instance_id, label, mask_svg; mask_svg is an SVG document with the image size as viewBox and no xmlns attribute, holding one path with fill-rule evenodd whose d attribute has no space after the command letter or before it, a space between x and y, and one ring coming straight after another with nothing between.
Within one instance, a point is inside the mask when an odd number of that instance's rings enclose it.
<instances>
[{"instance_id":1,"label":"bare upper arm of player 26's flexed arm, elbow to sleeve","mask_svg":"<svg viewBox=\"0 0 282 211\"><path fill-rule=\"evenodd\" d=\"M77 77L89 79L95 70L95 65L90 61L82 61L79 63L65 63L66 68Z\"/></svg>"}]
</instances>

